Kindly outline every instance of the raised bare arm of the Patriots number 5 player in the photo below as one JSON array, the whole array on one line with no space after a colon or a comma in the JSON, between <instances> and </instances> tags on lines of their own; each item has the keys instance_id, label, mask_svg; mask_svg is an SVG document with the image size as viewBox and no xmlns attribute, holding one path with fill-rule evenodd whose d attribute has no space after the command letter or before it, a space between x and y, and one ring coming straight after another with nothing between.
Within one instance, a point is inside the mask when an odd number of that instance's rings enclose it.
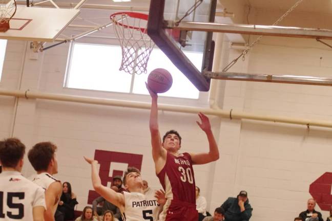
<instances>
[{"instance_id":1,"label":"raised bare arm of the Patriots number 5 player","mask_svg":"<svg viewBox=\"0 0 332 221\"><path fill-rule=\"evenodd\" d=\"M121 211L124 210L124 196L121 193L117 193L111 188L103 186L97 171L98 161L92 160L90 158L84 157L84 159L91 164L91 179L93 188L99 193L102 197L105 198L108 202L119 207Z\"/></svg>"}]
</instances>

